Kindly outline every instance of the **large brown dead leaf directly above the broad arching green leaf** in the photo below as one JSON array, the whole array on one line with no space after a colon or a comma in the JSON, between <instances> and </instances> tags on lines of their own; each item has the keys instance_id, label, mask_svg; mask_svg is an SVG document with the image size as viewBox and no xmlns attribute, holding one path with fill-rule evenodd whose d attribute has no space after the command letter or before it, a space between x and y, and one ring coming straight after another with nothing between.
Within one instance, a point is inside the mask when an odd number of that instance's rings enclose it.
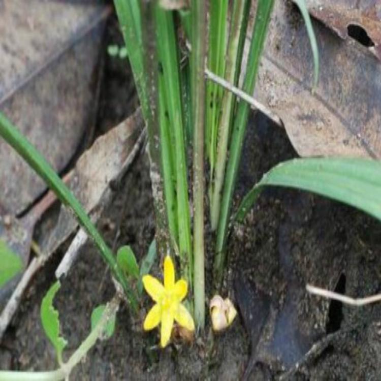
<instances>
[{"instance_id":1,"label":"large brown dead leaf directly above the broad arching green leaf","mask_svg":"<svg viewBox=\"0 0 381 381\"><path fill-rule=\"evenodd\" d=\"M275 2L255 98L280 116L300 156L381 158L381 65L356 41L313 25L321 72L312 94L304 22L287 2Z\"/></svg>"}]
</instances>

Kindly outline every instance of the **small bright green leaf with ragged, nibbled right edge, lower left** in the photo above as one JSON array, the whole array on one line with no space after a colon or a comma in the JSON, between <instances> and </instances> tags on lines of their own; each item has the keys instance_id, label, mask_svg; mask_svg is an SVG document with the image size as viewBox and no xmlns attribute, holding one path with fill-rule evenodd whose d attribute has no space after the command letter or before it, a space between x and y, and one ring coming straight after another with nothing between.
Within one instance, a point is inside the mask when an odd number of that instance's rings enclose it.
<instances>
[{"instance_id":1,"label":"small bright green leaf with ragged, nibbled right edge, lower left","mask_svg":"<svg viewBox=\"0 0 381 381\"><path fill-rule=\"evenodd\" d=\"M41 322L46 336L53 344L57 353L58 362L62 363L62 351L68 343L63 337L59 336L59 314L53 307L53 299L61 283L57 280L48 290L41 303Z\"/></svg>"}]
</instances>

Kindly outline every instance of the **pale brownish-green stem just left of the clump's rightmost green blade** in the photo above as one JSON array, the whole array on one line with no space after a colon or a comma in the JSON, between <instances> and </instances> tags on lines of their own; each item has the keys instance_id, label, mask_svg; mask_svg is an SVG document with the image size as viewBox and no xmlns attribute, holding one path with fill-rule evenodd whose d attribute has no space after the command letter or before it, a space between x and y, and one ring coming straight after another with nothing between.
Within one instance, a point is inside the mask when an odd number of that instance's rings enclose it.
<instances>
[{"instance_id":1,"label":"pale brownish-green stem just left of the clump's rightmost green blade","mask_svg":"<svg viewBox=\"0 0 381 381\"><path fill-rule=\"evenodd\" d=\"M237 63L238 48L240 36L246 34L246 28L241 28L242 25L247 24L244 17L248 18L247 8L250 4L248 0L236 0L233 6L233 14L231 21L231 31L228 44L228 57L225 69L225 78L230 83L235 83L235 78L238 77L236 72L239 72ZM232 113L234 111L235 97L232 92L226 91L221 106L222 115L218 128L218 147L217 147L217 160L215 164L214 183L211 184L211 227L216 230L219 220L219 211L221 205L221 193L224 185L225 167L228 157L228 141L230 134L230 124L232 120Z\"/></svg>"}]
</instances>

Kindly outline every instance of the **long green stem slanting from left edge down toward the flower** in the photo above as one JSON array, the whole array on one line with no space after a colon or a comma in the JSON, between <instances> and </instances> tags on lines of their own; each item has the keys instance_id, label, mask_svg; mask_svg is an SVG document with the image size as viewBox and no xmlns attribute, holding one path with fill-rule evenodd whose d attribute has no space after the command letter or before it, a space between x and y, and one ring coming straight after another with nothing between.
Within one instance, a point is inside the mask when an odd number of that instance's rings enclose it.
<instances>
[{"instance_id":1,"label":"long green stem slanting from left edge down toward the flower","mask_svg":"<svg viewBox=\"0 0 381 381\"><path fill-rule=\"evenodd\" d=\"M112 274L122 285L123 291L129 299L134 312L138 310L138 302L135 292L130 288L123 271L118 266L111 249L103 240L97 228L92 224L89 216L83 209L80 202L70 192L70 189L63 183L54 169L47 163L41 153L31 145L26 138L16 129L14 125L0 113L0 136L20 154L26 163L33 168L37 174L48 184L56 194L57 198L66 206L69 206L80 225L86 230L94 243L99 248L102 258L110 266Z\"/></svg>"}]
</instances>

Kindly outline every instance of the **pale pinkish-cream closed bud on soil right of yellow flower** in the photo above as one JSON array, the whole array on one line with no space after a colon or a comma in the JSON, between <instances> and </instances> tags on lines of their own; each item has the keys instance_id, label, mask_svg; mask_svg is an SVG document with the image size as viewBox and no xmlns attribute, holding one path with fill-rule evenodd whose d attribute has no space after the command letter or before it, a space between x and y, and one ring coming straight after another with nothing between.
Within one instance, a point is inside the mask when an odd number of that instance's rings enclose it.
<instances>
[{"instance_id":1,"label":"pale pinkish-cream closed bud on soil right of yellow flower","mask_svg":"<svg viewBox=\"0 0 381 381\"><path fill-rule=\"evenodd\" d=\"M225 300L219 295L213 296L209 303L212 328L215 332L221 332L228 328L234 321L237 310L229 298Z\"/></svg>"}]
</instances>

